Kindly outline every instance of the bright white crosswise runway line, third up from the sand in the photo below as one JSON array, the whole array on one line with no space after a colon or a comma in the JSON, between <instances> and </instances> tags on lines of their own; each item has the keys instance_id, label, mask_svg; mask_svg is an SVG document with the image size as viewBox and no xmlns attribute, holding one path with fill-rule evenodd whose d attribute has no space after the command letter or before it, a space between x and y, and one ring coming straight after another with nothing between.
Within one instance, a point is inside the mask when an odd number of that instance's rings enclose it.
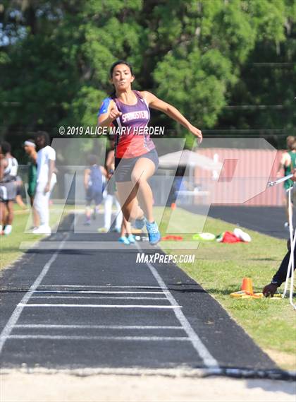
<instances>
[{"instance_id":1,"label":"bright white crosswise runway line, third up from the sand","mask_svg":"<svg viewBox=\"0 0 296 402\"><path fill-rule=\"evenodd\" d=\"M67 304L54 304L54 303L38 303L27 304L20 303L20 307L72 307L72 308L99 308L99 309L181 309L182 306L165 306L165 305L67 305Z\"/></svg>"}]
</instances>

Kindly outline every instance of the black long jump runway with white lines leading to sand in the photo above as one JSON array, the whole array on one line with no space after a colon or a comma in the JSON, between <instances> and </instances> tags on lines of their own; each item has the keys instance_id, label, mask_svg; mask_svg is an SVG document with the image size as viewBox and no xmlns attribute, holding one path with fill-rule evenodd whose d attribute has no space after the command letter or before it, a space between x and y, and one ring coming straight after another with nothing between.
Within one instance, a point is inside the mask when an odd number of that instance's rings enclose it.
<instances>
[{"instance_id":1,"label":"black long jump runway with white lines leading to sand","mask_svg":"<svg viewBox=\"0 0 296 402\"><path fill-rule=\"evenodd\" d=\"M136 264L140 242L69 250L116 235L61 230L42 244L53 240L58 249L26 252L1 278L2 368L276 369L178 266Z\"/></svg>"}]
</instances>

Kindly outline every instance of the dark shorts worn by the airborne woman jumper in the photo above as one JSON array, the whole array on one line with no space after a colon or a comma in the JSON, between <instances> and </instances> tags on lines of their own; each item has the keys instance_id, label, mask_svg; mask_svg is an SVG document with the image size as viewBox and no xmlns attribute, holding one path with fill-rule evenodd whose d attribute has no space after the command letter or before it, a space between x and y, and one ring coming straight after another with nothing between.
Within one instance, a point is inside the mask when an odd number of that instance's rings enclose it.
<instances>
[{"instance_id":1,"label":"dark shorts worn by the airborne woman jumper","mask_svg":"<svg viewBox=\"0 0 296 402\"><path fill-rule=\"evenodd\" d=\"M159 167L159 155L157 155L156 149L149 150L149 152L136 158L115 158L115 180L116 182L131 182L132 169L135 167L137 160L140 158L147 158L152 160L155 165L155 172ZM119 165L120 163L120 165Z\"/></svg>"}]
</instances>

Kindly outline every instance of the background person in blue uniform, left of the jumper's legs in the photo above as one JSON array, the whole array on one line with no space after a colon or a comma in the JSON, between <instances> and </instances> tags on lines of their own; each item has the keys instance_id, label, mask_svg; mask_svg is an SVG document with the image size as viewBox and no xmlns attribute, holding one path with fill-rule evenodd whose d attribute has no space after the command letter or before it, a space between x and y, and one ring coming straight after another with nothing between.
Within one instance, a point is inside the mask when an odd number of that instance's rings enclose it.
<instances>
[{"instance_id":1,"label":"background person in blue uniform, left of the jumper's legs","mask_svg":"<svg viewBox=\"0 0 296 402\"><path fill-rule=\"evenodd\" d=\"M90 225L91 209L94 201L94 218L99 211L99 204L103 199L103 175L104 167L97 165L97 156L89 155L87 158L89 167L85 169L84 184L86 191L85 225Z\"/></svg>"}]
</instances>

